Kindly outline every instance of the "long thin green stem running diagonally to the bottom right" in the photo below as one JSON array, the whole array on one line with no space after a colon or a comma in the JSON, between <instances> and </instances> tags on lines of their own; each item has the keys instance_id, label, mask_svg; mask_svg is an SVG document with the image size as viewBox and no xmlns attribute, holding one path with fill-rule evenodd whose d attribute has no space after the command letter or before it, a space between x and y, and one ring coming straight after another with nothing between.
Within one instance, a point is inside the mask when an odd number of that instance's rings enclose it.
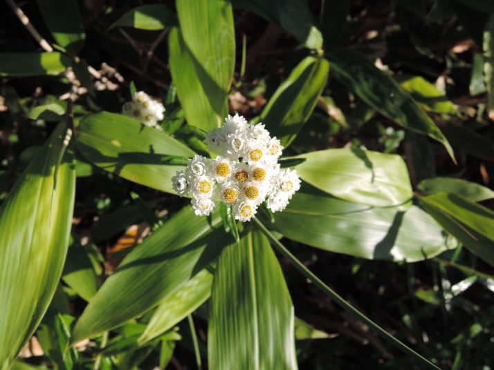
<instances>
[{"instance_id":1,"label":"long thin green stem running diagonally to the bottom right","mask_svg":"<svg viewBox=\"0 0 494 370\"><path fill-rule=\"evenodd\" d=\"M366 324L369 328L373 329L376 333L381 335L387 342L390 342L394 347L401 349L401 351L407 353L408 355L417 358L417 360L423 362L423 364L426 364L430 369L435 369L435 370L441 370L439 367L436 365L432 364L429 360L426 358L423 358L422 356L419 355L419 353L415 352L414 350L410 349L408 346L394 338L393 335L390 333L387 333L383 328L381 328L378 324L376 324L374 321L370 320L365 316L363 313L358 311L354 306L349 304L346 300L344 300L336 291L333 291L333 289L329 288L322 280L319 279L319 277L315 276L309 269L307 269L302 262L300 262L297 257L295 257L293 254L290 253L288 249L286 249L283 244L281 244L277 238L271 234L271 232L260 222L257 218L253 219L254 222L261 228L264 234L268 237L269 240L271 240L273 246L279 251L286 259L288 259L293 266L295 266L295 269L298 269L305 277L307 277L315 286L317 286L324 294L326 294L329 298L331 298L334 302L336 302L339 306L342 307L342 309L345 309L345 311L351 313L354 315L356 318L358 318L360 321L362 321L364 324Z\"/></svg>"}]
</instances>

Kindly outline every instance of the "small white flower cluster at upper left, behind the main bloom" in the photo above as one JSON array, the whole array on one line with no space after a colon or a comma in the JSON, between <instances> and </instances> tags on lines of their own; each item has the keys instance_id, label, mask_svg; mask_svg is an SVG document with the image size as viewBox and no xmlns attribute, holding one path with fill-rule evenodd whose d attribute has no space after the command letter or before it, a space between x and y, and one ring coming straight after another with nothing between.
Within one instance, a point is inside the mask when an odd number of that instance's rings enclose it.
<instances>
[{"instance_id":1,"label":"small white flower cluster at upper left, behind the main bloom","mask_svg":"<svg viewBox=\"0 0 494 370\"><path fill-rule=\"evenodd\" d=\"M122 114L137 119L146 126L156 126L165 116L165 107L159 101L149 97L143 91L134 93L132 101L127 101L122 106ZM160 128L156 126L156 128Z\"/></svg>"}]
</instances>

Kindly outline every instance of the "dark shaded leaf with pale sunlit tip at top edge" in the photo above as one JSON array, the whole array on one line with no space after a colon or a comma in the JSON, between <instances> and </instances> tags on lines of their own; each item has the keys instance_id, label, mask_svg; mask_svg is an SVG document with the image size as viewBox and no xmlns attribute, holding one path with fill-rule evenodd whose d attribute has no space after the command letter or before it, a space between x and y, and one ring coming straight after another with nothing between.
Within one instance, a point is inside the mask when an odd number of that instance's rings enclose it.
<instances>
[{"instance_id":1,"label":"dark shaded leaf with pale sunlit tip at top edge","mask_svg":"<svg viewBox=\"0 0 494 370\"><path fill-rule=\"evenodd\" d=\"M322 48L322 35L305 0L234 0L235 8L256 12L291 33L310 49Z\"/></svg>"}]
</instances>

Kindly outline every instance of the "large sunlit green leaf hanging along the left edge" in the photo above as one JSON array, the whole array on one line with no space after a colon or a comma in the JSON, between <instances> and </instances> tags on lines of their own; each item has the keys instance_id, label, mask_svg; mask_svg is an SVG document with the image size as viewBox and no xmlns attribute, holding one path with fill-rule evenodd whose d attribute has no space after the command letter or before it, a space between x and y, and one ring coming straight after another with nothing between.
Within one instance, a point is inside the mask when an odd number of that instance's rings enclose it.
<instances>
[{"instance_id":1,"label":"large sunlit green leaf hanging along the left edge","mask_svg":"<svg viewBox=\"0 0 494 370\"><path fill-rule=\"evenodd\" d=\"M60 124L0 208L0 368L41 321L62 275L75 171L71 132Z\"/></svg>"}]
</instances>

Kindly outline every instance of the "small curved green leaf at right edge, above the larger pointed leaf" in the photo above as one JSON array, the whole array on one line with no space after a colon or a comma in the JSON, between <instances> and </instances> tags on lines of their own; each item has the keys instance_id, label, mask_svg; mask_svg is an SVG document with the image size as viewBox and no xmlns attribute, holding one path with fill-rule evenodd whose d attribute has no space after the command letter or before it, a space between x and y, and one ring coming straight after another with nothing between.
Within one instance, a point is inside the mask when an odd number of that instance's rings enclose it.
<instances>
[{"instance_id":1,"label":"small curved green leaf at right edge, above the larger pointed leaf","mask_svg":"<svg viewBox=\"0 0 494 370\"><path fill-rule=\"evenodd\" d=\"M485 186L475 184L462 179L453 179L450 177L436 177L434 179L425 179L417 186L422 195L433 195L446 191L455 193L470 199L472 202L494 198L494 191Z\"/></svg>"}]
</instances>

